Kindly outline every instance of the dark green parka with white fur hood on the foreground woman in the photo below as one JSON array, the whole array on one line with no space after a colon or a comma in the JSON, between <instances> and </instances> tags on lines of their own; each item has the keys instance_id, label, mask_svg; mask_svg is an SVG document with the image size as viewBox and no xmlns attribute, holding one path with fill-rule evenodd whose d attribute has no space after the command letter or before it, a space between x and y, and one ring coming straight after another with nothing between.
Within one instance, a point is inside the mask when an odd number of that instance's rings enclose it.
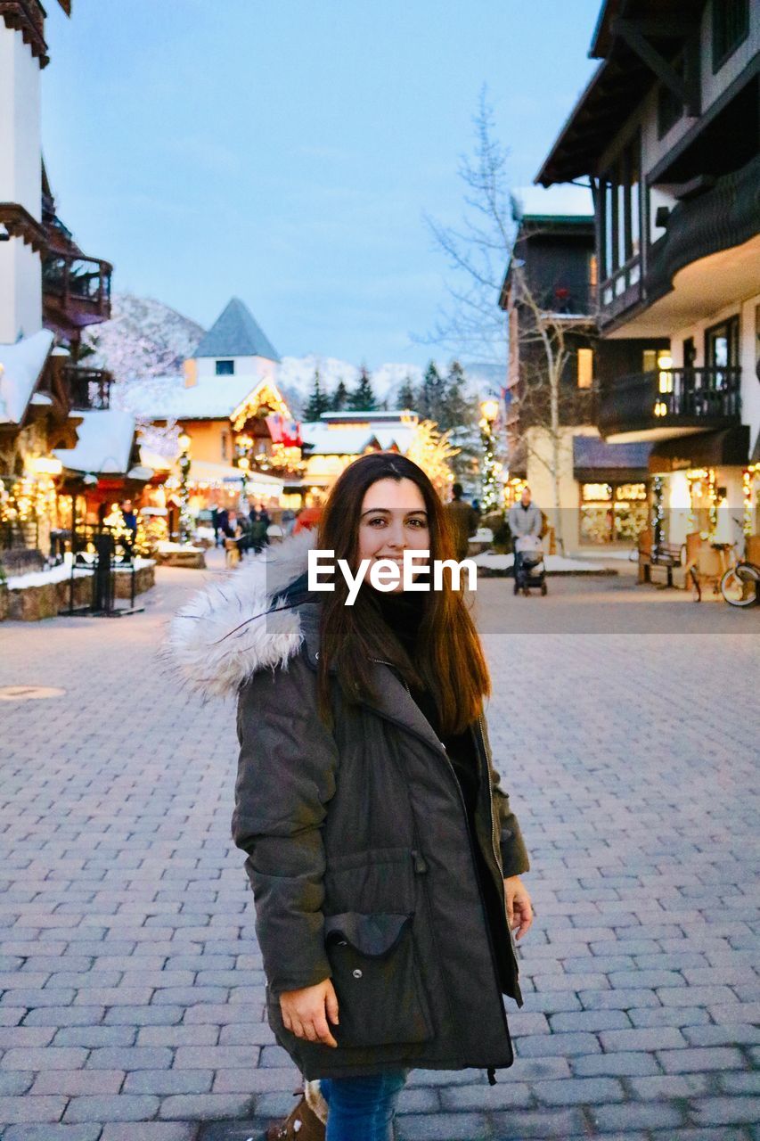
<instances>
[{"instance_id":1,"label":"dark green parka with white fur hood on the foreground woman","mask_svg":"<svg viewBox=\"0 0 760 1141\"><path fill-rule=\"evenodd\" d=\"M269 1025L306 1078L511 1066L502 995L523 996L503 877L529 864L485 719L471 728L482 888L454 770L394 670L373 663L374 705L345 702L335 681L332 731L317 714L318 596L283 605L312 544L268 549L172 631L186 677L237 691L232 834L248 857ZM337 1049L296 1037L280 1011L283 990L326 978Z\"/></svg>"}]
</instances>

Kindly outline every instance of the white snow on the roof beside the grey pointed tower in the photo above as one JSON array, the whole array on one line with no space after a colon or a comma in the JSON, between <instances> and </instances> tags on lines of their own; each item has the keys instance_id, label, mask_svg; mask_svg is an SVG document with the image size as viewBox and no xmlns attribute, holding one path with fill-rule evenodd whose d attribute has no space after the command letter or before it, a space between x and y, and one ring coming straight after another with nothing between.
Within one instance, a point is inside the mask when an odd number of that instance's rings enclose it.
<instances>
[{"instance_id":1,"label":"white snow on the roof beside the grey pointed tower","mask_svg":"<svg viewBox=\"0 0 760 1141\"><path fill-rule=\"evenodd\" d=\"M153 377L130 381L118 388L121 407L149 420L227 420L246 396L261 383L261 377L209 377L191 388L184 377Z\"/></svg>"}]
</instances>

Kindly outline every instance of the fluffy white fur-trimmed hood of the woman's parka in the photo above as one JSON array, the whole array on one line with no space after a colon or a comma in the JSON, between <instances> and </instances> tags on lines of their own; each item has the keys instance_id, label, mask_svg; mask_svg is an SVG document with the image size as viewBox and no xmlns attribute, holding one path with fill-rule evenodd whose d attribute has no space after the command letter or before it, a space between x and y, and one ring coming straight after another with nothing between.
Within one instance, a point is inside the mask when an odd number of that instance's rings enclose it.
<instances>
[{"instance_id":1,"label":"fluffy white fur-trimmed hood of the woman's parka","mask_svg":"<svg viewBox=\"0 0 760 1141\"><path fill-rule=\"evenodd\" d=\"M265 547L177 612L165 648L187 685L205 697L233 696L258 670L285 665L298 653L305 638L299 607L277 607L306 573L315 543L314 532L304 531Z\"/></svg>"}]
</instances>

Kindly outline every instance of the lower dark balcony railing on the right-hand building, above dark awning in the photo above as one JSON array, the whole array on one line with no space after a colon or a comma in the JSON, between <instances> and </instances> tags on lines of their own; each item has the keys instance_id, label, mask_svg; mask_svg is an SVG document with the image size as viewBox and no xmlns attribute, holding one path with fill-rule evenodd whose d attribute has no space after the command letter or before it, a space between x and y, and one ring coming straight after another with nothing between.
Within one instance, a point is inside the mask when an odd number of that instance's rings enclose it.
<instances>
[{"instance_id":1,"label":"lower dark balcony railing on the right-hand building, above dark awning","mask_svg":"<svg viewBox=\"0 0 760 1141\"><path fill-rule=\"evenodd\" d=\"M665 436L684 428L708 430L741 423L741 388L742 370L720 366L656 369L622 377L599 397L599 430L603 436Z\"/></svg>"}]
</instances>

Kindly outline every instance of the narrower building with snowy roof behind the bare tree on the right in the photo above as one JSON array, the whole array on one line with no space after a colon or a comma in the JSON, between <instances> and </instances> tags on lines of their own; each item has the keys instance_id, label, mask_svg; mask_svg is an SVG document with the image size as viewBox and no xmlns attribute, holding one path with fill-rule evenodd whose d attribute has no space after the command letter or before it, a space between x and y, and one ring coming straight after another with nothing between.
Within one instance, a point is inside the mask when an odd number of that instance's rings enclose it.
<instances>
[{"instance_id":1,"label":"narrower building with snowy roof behind the bare tree on the right","mask_svg":"<svg viewBox=\"0 0 760 1141\"><path fill-rule=\"evenodd\" d=\"M606 345L597 329L593 213L571 212L564 202L558 208L548 191L532 191L529 200L529 212L516 210L515 248L500 298L509 323L508 496L516 501L527 483L552 521L559 507L555 527L565 551L631 547L647 521L650 445L605 443L596 426ZM552 353L564 356L556 427L544 337ZM633 355L653 347L625 343Z\"/></svg>"}]
</instances>

